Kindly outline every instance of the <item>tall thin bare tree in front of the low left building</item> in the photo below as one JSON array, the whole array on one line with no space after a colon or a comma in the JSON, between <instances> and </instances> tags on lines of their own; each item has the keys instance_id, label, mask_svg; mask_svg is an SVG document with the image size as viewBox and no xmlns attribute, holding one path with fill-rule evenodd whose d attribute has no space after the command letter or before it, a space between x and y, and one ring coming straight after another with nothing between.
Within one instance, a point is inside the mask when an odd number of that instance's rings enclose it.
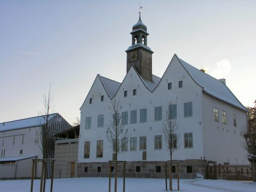
<instances>
[{"instance_id":1,"label":"tall thin bare tree in front of the low left building","mask_svg":"<svg viewBox=\"0 0 256 192\"><path fill-rule=\"evenodd\" d=\"M51 85L48 91L48 94L44 94L43 95L43 103L44 103L44 108L39 111L39 115L42 116L42 118L40 118L40 122L39 124L41 124L41 127L39 129L39 134L38 137L40 139L40 143L38 143L39 148L42 151L42 155L43 158L48 158L48 153L47 150L50 147L50 115L53 113L54 111L54 107L52 106L53 103L53 95L51 95L50 93L51 90ZM39 119L39 118L38 118Z\"/></svg>"}]
</instances>

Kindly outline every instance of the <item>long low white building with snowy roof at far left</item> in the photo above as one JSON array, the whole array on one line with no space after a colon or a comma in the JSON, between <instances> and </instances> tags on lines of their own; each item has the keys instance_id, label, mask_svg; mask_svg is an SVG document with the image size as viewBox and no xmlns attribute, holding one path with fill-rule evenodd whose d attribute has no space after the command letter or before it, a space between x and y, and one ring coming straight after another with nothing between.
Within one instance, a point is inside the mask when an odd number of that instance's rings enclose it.
<instances>
[{"instance_id":1,"label":"long low white building with snowy roof at far left","mask_svg":"<svg viewBox=\"0 0 256 192\"><path fill-rule=\"evenodd\" d=\"M0 178L31 177L32 158L42 159L40 128L44 116L0 123ZM52 135L69 129L70 124L58 113L49 116L50 142L47 156L54 157L55 138ZM37 163L36 177L40 176L41 163Z\"/></svg>"}]
</instances>

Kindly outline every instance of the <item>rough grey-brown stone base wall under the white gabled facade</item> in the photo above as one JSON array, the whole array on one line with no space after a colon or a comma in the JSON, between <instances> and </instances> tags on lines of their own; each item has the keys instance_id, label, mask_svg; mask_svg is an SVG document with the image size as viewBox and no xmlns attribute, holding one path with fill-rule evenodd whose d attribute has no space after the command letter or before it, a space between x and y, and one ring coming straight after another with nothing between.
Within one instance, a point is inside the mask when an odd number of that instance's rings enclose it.
<instances>
[{"instance_id":1,"label":"rough grey-brown stone base wall under the white gabled facade","mask_svg":"<svg viewBox=\"0 0 256 192\"><path fill-rule=\"evenodd\" d=\"M176 160L175 160L176 161ZM179 173L181 179L206 178L206 160L188 159L179 161ZM112 163L115 167L115 163ZM173 178L177 178L177 165ZM98 168L100 167L100 168ZM192 169L191 169L192 168ZM140 169L140 170L138 170ZM139 171L139 172L138 172ZM187 173L191 172L192 173ZM123 164L118 163L118 177L123 177ZM169 166L167 165L167 173L169 177ZM109 163L108 162L88 162L78 163L78 177L108 177ZM111 173L114 177L115 168ZM125 177L129 178L165 178L165 163L164 161L127 161L125 166Z\"/></svg>"}]
</instances>

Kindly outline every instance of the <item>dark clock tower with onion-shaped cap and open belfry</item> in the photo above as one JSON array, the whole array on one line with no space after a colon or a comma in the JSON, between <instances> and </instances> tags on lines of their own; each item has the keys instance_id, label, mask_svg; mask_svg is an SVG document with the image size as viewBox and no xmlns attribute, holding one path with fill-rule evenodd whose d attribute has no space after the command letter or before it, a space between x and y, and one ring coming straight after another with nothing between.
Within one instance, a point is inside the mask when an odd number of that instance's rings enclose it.
<instances>
[{"instance_id":1,"label":"dark clock tower with onion-shaped cap and open belfry","mask_svg":"<svg viewBox=\"0 0 256 192\"><path fill-rule=\"evenodd\" d=\"M131 46L125 51L127 53L126 73L131 66L147 81L152 81L152 53L147 46L147 26L142 23L139 15L137 24L132 26Z\"/></svg>"}]
</instances>

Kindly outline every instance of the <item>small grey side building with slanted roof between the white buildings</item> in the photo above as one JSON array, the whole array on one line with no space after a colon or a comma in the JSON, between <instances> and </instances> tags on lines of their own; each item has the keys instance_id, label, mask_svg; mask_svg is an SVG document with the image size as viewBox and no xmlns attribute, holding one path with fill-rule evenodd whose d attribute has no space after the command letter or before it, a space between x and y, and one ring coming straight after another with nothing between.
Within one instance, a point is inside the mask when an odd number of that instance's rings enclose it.
<instances>
[{"instance_id":1,"label":"small grey side building with slanted roof between the white buildings","mask_svg":"<svg viewBox=\"0 0 256 192\"><path fill-rule=\"evenodd\" d=\"M55 142L54 178L77 177L77 155L80 125L54 135Z\"/></svg>"}]
</instances>

